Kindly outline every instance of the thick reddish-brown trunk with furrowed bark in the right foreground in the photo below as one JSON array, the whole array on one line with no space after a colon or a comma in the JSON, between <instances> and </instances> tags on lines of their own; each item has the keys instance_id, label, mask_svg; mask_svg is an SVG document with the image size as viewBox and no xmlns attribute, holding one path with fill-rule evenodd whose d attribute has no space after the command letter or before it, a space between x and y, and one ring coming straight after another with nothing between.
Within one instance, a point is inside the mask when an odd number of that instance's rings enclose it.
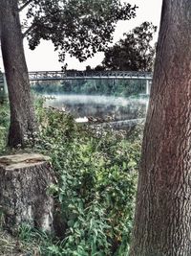
<instances>
[{"instance_id":1,"label":"thick reddish-brown trunk with furrowed bark in the right foreground","mask_svg":"<svg viewBox=\"0 0 191 256\"><path fill-rule=\"evenodd\" d=\"M163 0L130 256L191 255L191 4Z\"/></svg>"}]
</instances>

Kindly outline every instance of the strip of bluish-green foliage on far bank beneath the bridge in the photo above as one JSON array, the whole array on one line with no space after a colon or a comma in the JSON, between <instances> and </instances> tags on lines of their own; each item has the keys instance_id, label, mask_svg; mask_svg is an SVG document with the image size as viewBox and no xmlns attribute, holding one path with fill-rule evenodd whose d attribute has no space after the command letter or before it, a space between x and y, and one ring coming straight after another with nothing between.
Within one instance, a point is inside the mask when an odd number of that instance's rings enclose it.
<instances>
[{"instance_id":1,"label":"strip of bluish-green foliage on far bank beneath the bridge","mask_svg":"<svg viewBox=\"0 0 191 256\"><path fill-rule=\"evenodd\" d=\"M145 93L146 84L141 80L80 80L49 83L35 82L32 89L40 94L88 94L128 97Z\"/></svg>"}]
</instances>

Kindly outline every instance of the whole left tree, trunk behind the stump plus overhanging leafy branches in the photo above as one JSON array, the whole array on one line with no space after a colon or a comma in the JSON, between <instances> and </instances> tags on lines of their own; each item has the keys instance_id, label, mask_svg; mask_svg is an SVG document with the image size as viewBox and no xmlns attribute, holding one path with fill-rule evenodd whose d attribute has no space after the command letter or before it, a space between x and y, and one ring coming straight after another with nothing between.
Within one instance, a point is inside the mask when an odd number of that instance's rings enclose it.
<instances>
[{"instance_id":1,"label":"whole left tree, trunk behind the stump plus overhanging leafy branches","mask_svg":"<svg viewBox=\"0 0 191 256\"><path fill-rule=\"evenodd\" d=\"M1 0L0 4L0 40L11 105L8 144L24 146L36 126L23 38L27 36L31 49L41 38L52 40L60 61L66 52L83 61L108 47L117 21L134 17L136 7L120 0ZM19 12L25 9L27 20L21 27Z\"/></svg>"}]
</instances>

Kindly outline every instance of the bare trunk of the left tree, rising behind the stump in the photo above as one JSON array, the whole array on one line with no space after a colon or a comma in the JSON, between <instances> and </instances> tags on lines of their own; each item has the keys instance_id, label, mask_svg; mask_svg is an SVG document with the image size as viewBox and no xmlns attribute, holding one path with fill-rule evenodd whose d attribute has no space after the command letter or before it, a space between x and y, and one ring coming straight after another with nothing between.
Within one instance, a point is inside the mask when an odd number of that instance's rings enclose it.
<instances>
[{"instance_id":1,"label":"bare trunk of the left tree, rising behind the stump","mask_svg":"<svg viewBox=\"0 0 191 256\"><path fill-rule=\"evenodd\" d=\"M33 137L34 111L23 39L18 13L18 0L1 0L1 48L11 106L9 146L24 146L25 138Z\"/></svg>"}]
</instances>

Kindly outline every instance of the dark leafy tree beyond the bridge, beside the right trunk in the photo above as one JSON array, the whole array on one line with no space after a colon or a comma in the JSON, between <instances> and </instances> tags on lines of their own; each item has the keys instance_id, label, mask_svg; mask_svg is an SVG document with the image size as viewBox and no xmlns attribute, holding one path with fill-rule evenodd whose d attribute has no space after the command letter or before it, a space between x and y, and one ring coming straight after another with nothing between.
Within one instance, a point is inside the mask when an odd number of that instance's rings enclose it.
<instances>
[{"instance_id":1,"label":"dark leafy tree beyond the bridge, beside the right trunk","mask_svg":"<svg viewBox=\"0 0 191 256\"><path fill-rule=\"evenodd\" d=\"M155 46L151 45L157 27L143 22L106 50L103 67L109 70L152 71Z\"/></svg>"}]
</instances>

